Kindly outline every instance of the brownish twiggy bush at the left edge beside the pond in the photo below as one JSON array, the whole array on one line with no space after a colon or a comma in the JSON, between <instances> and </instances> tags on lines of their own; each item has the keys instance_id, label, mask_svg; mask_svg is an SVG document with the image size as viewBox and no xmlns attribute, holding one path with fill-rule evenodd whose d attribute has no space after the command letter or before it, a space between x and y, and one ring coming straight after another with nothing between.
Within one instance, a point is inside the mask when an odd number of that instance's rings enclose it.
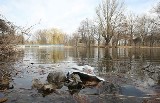
<instances>
[{"instance_id":1,"label":"brownish twiggy bush at the left edge beside the pond","mask_svg":"<svg viewBox=\"0 0 160 103\"><path fill-rule=\"evenodd\" d=\"M13 23L0 17L0 56L14 52L13 46L18 43L15 28Z\"/></svg>"}]
</instances>

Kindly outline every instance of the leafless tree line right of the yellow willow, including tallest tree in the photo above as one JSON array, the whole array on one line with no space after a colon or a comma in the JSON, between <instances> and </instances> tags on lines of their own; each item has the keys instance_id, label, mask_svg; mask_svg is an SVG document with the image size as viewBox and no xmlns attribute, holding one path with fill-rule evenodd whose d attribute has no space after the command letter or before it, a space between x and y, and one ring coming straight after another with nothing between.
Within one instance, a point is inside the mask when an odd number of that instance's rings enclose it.
<instances>
[{"instance_id":1,"label":"leafless tree line right of the yellow willow, including tallest tree","mask_svg":"<svg viewBox=\"0 0 160 103\"><path fill-rule=\"evenodd\" d=\"M103 0L96 18L83 20L73 34L78 46L160 46L160 2L150 15L126 14L124 2Z\"/></svg>"}]
</instances>

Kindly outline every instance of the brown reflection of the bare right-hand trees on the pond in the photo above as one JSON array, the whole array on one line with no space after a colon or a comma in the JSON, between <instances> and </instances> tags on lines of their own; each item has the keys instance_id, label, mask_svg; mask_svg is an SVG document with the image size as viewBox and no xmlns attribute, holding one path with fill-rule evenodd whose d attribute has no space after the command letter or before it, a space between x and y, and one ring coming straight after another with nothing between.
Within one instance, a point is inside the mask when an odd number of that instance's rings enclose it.
<instances>
[{"instance_id":1,"label":"brown reflection of the bare right-hand trees on the pond","mask_svg":"<svg viewBox=\"0 0 160 103\"><path fill-rule=\"evenodd\" d=\"M121 49L123 50L123 49ZM112 52L110 52L112 51ZM139 80L147 80L153 74L153 77L157 78L157 70L159 65L160 56L158 55L160 49L140 49L140 48L132 48L126 49L125 52L119 51L118 49L105 49L102 58L99 58L99 72L116 72L116 73L123 73L132 74L135 78ZM154 51L154 52L153 52ZM120 54L121 52L122 54ZM127 53L128 52L128 53ZM155 62L154 62L155 61ZM147 65L152 65L148 71L150 73L146 74L142 70L142 68L146 67ZM153 73L155 71L156 73ZM156 76L155 76L156 75ZM154 79L157 81L157 79Z\"/></svg>"}]
</instances>

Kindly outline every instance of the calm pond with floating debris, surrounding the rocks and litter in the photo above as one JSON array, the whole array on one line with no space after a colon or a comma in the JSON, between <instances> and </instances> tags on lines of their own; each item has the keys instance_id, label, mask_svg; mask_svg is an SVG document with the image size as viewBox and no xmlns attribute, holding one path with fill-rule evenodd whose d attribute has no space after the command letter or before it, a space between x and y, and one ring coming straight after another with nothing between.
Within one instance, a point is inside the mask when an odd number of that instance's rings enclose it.
<instances>
[{"instance_id":1,"label":"calm pond with floating debris, surrounding the rocks and litter","mask_svg":"<svg viewBox=\"0 0 160 103\"><path fill-rule=\"evenodd\" d=\"M66 48L26 47L14 60L1 60L1 68L11 71L9 88L1 90L7 103L159 103L159 48ZM6 58L5 58L6 59ZM100 87L81 89L71 95L63 86L43 95L32 88L33 79L46 82L54 69L89 65L105 79ZM69 71L69 70L68 70ZM2 75L3 73L1 73Z\"/></svg>"}]
</instances>

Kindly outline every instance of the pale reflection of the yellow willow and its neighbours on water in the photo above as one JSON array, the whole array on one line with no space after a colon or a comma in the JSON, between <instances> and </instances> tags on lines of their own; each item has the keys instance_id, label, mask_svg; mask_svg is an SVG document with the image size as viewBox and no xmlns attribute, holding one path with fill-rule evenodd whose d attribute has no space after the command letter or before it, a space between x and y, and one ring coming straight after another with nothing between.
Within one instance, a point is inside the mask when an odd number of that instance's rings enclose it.
<instances>
[{"instance_id":1,"label":"pale reflection of the yellow willow and its neighbours on water","mask_svg":"<svg viewBox=\"0 0 160 103\"><path fill-rule=\"evenodd\" d=\"M26 48L24 60L36 63L55 63L63 61L64 57L63 48Z\"/></svg>"}]
</instances>

